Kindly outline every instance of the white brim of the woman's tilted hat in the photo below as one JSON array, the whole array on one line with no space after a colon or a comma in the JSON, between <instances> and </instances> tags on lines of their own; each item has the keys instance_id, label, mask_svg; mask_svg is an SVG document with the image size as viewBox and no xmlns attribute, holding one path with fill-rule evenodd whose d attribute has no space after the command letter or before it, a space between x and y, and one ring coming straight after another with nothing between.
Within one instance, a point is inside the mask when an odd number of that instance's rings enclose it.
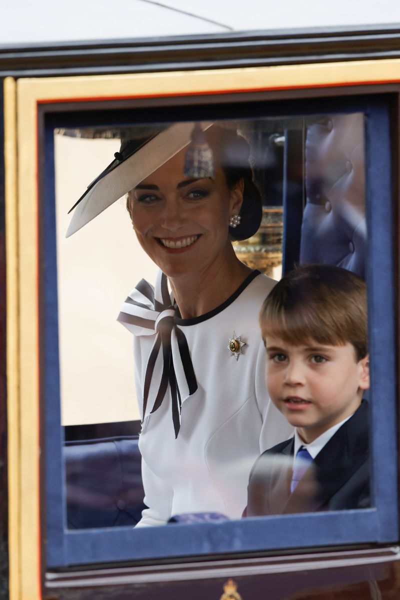
<instances>
[{"instance_id":1,"label":"white brim of the woman's tilted hat","mask_svg":"<svg viewBox=\"0 0 400 600\"><path fill-rule=\"evenodd\" d=\"M211 122L203 122L206 130ZM193 122L175 123L140 146L122 163L116 161L78 201L65 237L69 238L101 212L140 184L191 141Z\"/></svg>"}]
</instances>

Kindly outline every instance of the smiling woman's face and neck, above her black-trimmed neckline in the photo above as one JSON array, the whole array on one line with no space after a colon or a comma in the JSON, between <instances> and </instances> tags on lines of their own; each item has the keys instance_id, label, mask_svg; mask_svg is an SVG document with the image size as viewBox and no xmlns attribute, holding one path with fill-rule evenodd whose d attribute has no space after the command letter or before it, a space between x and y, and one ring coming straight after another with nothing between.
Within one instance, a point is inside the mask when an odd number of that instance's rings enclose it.
<instances>
[{"instance_id":1,"label":"smiling woman's face and neck, above her black-trimmed neckline","mask_svg":"<svg viewBox=\"0 0 400 600\"><path fill-rule=\"evenodd\" d=\"M224 130L217 130L222 137ZM251 269L237 259L229 239L228 224L243 202L241 171L230 186L218 163L213 177L182 180L185 153L137 185L128 209L143 250L169 277L181 316L191 318L229 298ZM260 219L261 199L255 194Z\"/></svg>"}]
</instances>

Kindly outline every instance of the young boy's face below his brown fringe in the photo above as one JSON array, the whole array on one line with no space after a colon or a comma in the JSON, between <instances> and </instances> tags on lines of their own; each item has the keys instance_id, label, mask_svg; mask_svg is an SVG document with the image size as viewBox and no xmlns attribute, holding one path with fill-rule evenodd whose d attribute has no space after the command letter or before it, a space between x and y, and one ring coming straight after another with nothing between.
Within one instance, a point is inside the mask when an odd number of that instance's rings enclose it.
<instances>
[{"instance_id":1,"label":"young boy's face below his brown fringe","mask_svg":"<svg viewBox=\"0 0 400 600\"><path fill-rule=\"evenodd\" d=\"M263 338L270 398L304 442L356 411L369 388L368 356L357 362L350 343L292 346L264 331Z\"/></svg>"}]
</instances>

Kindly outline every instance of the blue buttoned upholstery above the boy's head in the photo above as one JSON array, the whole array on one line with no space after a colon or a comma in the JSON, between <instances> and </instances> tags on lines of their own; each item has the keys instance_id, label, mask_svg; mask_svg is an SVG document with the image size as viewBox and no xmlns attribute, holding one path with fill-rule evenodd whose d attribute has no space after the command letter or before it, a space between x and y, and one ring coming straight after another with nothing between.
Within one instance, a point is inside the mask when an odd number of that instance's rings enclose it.
<instances>
[{"instance_id":1,"label":"blue buttoned upholstery above the boy's head","mask_svg":"<svg viewBox=\"0 0 400 600\"><path fill-rule=\"evenodd\" d=\"M307 129L301 263L342 266L365 278L362 113L332 115Z\"/></svg>"}]
</instances>

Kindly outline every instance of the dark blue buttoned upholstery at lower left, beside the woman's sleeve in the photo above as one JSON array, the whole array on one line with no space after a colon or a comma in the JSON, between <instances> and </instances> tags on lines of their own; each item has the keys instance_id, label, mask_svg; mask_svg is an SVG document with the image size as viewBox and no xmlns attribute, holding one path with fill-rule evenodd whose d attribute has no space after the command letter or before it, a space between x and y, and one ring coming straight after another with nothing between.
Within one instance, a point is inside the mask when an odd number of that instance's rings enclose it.
<instances>
[{"instance_id":1,"label":"dark blue buttoned upholstery at lower left, beside the woman's sleeve","mask_svg":"<svg viewBox=\"0 0 400 600\"><path fill-rule=\"evenodd\" d=\"M138 436L66 442L69 529L136 525L143 504Z\"/></svg>"}]
</instances>

